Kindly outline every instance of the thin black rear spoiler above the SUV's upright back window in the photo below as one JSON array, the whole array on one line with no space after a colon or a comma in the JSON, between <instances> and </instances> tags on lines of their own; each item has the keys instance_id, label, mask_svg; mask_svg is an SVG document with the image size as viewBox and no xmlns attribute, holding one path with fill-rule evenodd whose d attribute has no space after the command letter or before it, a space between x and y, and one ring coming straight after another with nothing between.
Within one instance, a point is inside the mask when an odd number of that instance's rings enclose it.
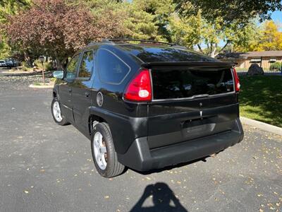
<instances>
[{"instance_id":1,"label":"thin black rear spoiler above the SUV's upright back window","mask_svg":"<svg viewBox=\"0 0 282 212\"><path fill-rule=\"evenodd\" d=\"M231 62L216 62L216 61L180 61L180 62L149 62L141 64L144 68L149 68L152 66L220 66L220 67L231 67L235 66L237 63Z\"/></svg>"}]
</instances>

